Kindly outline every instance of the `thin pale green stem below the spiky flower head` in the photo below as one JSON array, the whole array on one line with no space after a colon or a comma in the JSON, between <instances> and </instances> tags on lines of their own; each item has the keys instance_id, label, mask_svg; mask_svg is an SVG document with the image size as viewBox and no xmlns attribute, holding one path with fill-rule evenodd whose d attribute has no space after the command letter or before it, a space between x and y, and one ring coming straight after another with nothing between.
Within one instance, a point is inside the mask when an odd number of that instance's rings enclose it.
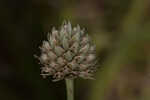
<instances>
[{"instance_id":1,"label":"thin pale green stem below the spiky flower head","mask_svg":"<svg viewBox=\"0 0 150 100\"><path fill-rule=\"evenodd\" d=\"M66 79L67 100L74 100L74 79Z\"/></svg>"}]
</instances>

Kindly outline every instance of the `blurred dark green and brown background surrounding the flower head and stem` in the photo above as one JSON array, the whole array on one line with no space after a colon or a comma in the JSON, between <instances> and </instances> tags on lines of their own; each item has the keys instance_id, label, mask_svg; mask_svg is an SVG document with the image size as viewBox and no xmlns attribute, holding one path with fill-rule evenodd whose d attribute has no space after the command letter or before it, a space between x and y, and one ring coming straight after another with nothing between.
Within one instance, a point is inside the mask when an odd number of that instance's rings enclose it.
<instances>
[{"instance_id":1,"label":"blurred dark green and brown background surrounding the flower head and stem","mask_svg":"<svg viewBox=\"0 0 150 100\"><path fill-rule=\"evenodd\" d=\"M0 100L66 100L65 82L43 79L33 57L64 19L86 27L99 58L75 100L150 100L149 0L1 0Z\"/></svg>"}]
</instances>

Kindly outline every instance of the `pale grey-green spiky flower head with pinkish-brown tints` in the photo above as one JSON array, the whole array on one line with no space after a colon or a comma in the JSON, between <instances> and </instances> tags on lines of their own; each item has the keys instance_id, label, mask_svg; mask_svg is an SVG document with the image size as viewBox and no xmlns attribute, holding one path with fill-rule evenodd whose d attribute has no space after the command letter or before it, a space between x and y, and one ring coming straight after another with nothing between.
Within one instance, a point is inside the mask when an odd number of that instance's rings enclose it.
<instances>
[{"instance_id":1,"label":"pale grey-green spiky flower head with pinkish-brown tints","mask_svg":"<svg viewBox=\"0 0 150 100\"><path fill-rule=\"evenodd\" d=\"M43 41L38 57L41 75L52 76L53 81L82 77L92 79L96 71L95 45L79 25L64 22L59 30L52 29Z\"/></svg>"}]
</instances>

